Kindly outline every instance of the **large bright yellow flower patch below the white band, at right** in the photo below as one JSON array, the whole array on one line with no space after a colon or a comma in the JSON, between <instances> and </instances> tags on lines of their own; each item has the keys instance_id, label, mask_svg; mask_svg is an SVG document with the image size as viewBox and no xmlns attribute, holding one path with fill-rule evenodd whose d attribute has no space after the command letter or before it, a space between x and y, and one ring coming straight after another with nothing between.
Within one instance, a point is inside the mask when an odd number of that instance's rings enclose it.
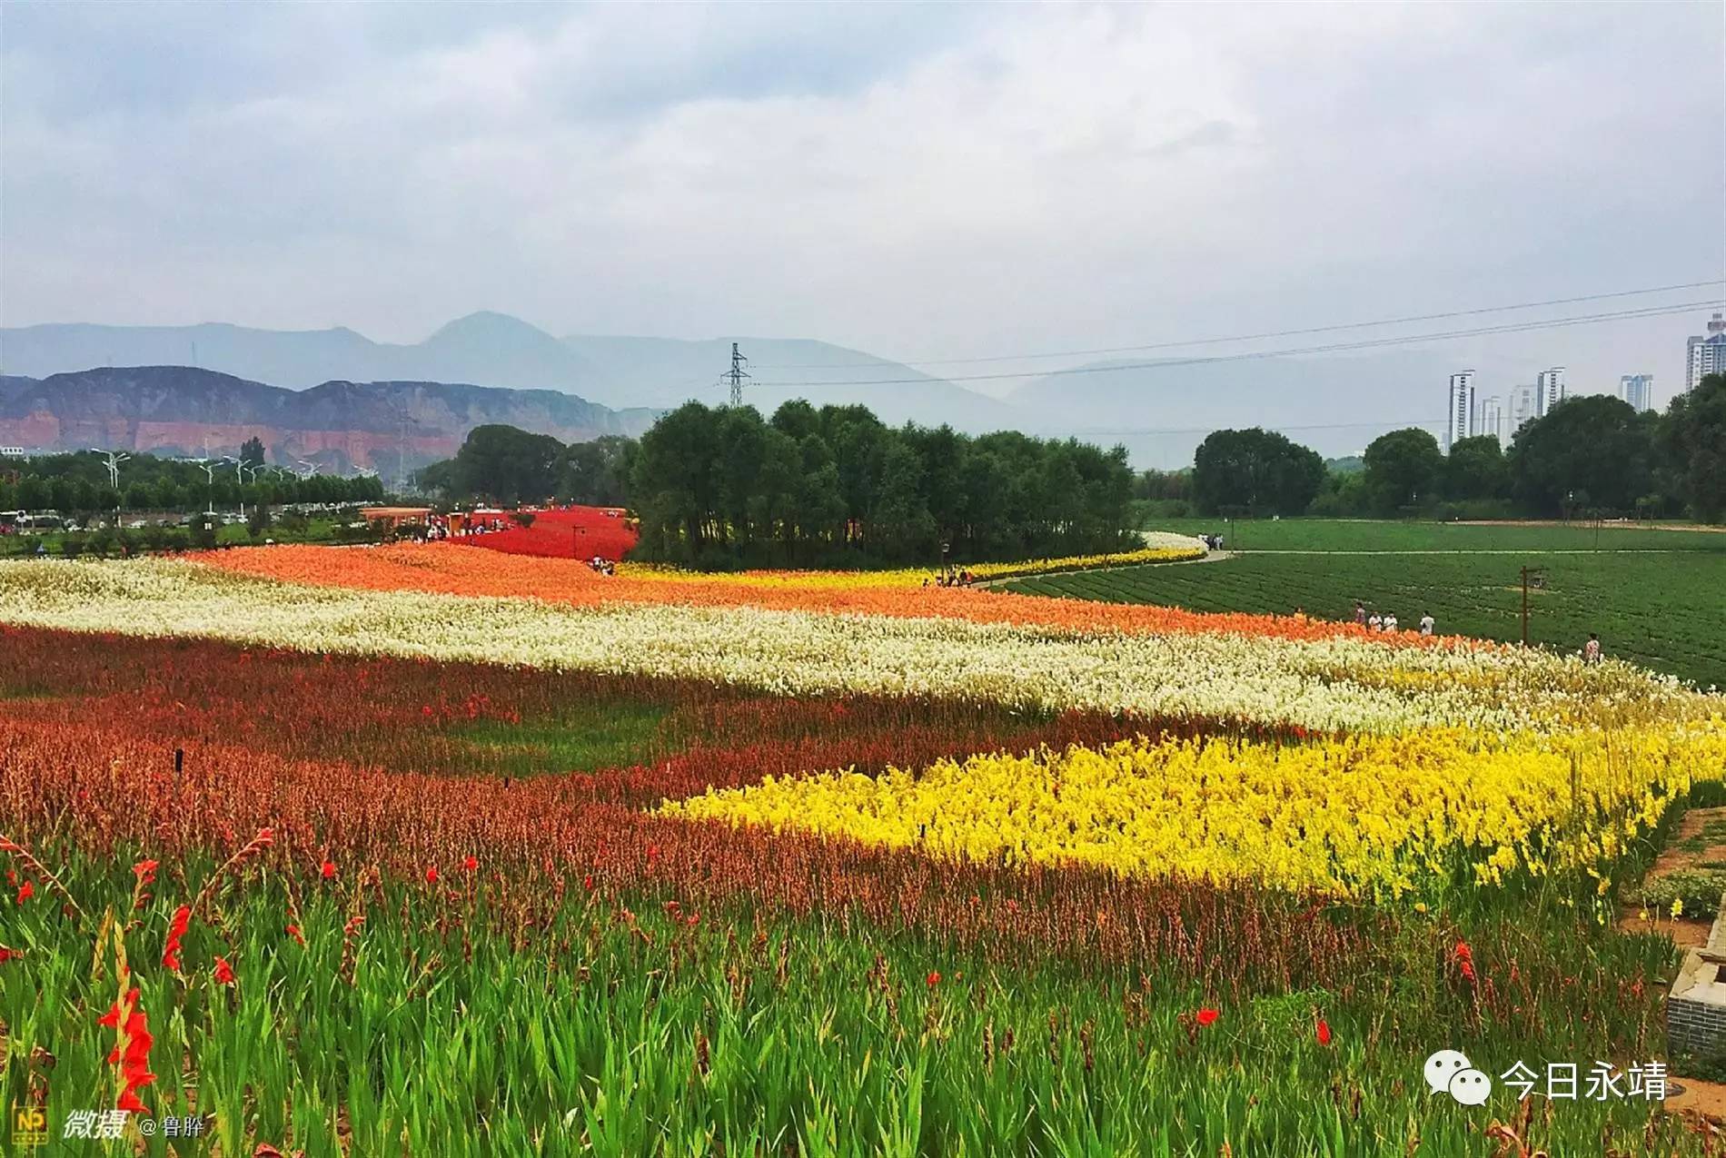
<instances>
[{"instance_id":1,"label":"large bright yellow flower patch below the white band, at right","mask_svg":"<svg viewBox=\"0 0 1726 1158\"><path fill-rule=\"evenodd\" d=\"M982 861L1395 897L1510 873L1602 880L1693 780L1726 770L1726 718L1672 730L1448 728L1276 746L1124 740L984 754L882 777L828 771L668 802L689 820L797 828Z\"/></svg>"}]
</instances>

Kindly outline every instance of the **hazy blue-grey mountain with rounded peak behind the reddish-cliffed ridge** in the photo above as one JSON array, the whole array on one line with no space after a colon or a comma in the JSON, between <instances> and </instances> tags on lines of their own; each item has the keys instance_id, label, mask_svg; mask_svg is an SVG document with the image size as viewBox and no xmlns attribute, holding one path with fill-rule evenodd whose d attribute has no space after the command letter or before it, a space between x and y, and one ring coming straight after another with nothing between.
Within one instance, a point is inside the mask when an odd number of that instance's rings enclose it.
<instances>
[{"instance_id":1,"label":"hazy blue-grey mountain with rounded peak behind the reddish-cliffed ridge","mask_svg":"<svg viewBox=\"0 0 1726 1158\"><path fill-rule=\"evenodd\" d=\"M789 397L804 397L816 406L860 402L892 425L951 423L970 431L1017 425L1011 407L994 399L858 350L801 338L739 342L744 354L761 366L749 400L763 411ZM35 378L91 366L200 366L290 390L331 380L478 381L580 393L611 407L670 407L687 399L723 402L718 378L730 364L730 338L685 342L575 335L559 340L495 312L459 318L413 345L373 342L347 328L285 331L230 324L67 323L0 330L0 366ZM858 378L911 381L839 385ZM811 385L773 387L773 381Z\"/></svg>"}]
</instances>

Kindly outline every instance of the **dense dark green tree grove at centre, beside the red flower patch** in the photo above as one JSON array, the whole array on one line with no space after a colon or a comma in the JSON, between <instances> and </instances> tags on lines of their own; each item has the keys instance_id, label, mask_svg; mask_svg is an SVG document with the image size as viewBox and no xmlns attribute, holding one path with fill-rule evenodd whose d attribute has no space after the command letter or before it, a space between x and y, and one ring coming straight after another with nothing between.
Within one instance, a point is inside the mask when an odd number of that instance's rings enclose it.
<instances>
[{"instance_id":1,"label":"dense dark green tree grove at centre, beside the red flower patch","mask_svg":"<svg viewBox=\"0 0 1726 1158\"><path fill-rule=\"evenodd\" d=\"M640 442L561 445L480 426L419 471L445 500L620 504L640 557L696 566L929 563L1131 545L1132 471L1101 450L1017 431L887 426L861 406L689 402Z\"/></svg>"}]
</instances>

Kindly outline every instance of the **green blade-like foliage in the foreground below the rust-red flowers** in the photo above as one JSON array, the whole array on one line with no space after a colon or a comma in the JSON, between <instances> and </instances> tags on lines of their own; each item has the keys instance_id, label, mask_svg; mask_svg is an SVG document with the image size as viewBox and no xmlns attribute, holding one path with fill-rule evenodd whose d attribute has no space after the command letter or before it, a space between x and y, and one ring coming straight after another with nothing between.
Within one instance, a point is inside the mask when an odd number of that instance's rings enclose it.
<instances>
[{"instance_id":1,"label":"green blade-like foliage in the foreground below the rust-red flowers","mask_svg":"<svg viewBox=\"0 0 1726 1158\"><path fill-rule=\"evenodd\" d=\"M93 911L126 906L129 866L155 854L38 853ZM211 1122L200 1139L154 1139L152 1155L261 1142L309 1158L1484 1153L1490 1115L1419 1080L1433 1044L1493 1075L1519 1060L1645 1060L1672 958L1666 939L1519 903L1377 925L1372 977L1395 979L1383 985L1213 994L1175 961L1061 961L1058 930L1041 947L963 949L939 930L884 927L861 904L799 920L670 885L614 892L604 866L594 891L571 866L568 894L559 882L547 904L487 859L471 875L445 863L447 887L362 891L349 875L364 866L343 861L342 878L293 892L274 872L230 870L219 922L207 909L190 922L174 977L161 956L173 908L190 899L176 882L216 865L186 858L123 922L150 1061L197 1075L157 1080L143 1099L157 1117ZM1303 904L1279 920L1350 920ZM29 972L0 987L17 1042L0 1099L26 1105L40 1082L52 1123L110 1105L114 1037L95 1022L116 982L110 965L91 968L95 934L43 899L7 911L7 944L24 951L9 968ZM1445 966L1457 941L1509 998L1458 991ZM231 985L212 979L217 954ZM1201 1006L1219 1010L1213 1025L1193 1022ZM1320 1015L1329 1046L1315 1041ZM52 1054L52 1080L31 1046ZM1505 1105L1491 1117L1514 1113ZM1636 1098L1578 1099L1517 1129L1557 1155L1622 1139L1674 1158L1707 1146Z\"/></svg>"}]
</instances>

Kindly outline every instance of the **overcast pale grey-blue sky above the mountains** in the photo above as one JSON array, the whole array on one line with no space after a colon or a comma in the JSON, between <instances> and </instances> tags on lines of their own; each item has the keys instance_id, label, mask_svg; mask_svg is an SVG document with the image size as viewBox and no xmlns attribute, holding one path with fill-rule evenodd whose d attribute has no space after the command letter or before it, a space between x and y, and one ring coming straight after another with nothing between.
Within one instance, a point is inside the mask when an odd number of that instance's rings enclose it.
<instances>
[{"instance_id":1,"label":"overcast pale grey-blue sky above the mountains","mask_svg":"<svg viewBox=\"0 0 1726 1158\"><path fill-rule=\"evenodd\" d=\"M910 361L1726 276L1717 2L62 0L0 43L7 326L497 309ZM1664 399L1705 316L1443 357Z\"/></svg>"}]
</instances>

